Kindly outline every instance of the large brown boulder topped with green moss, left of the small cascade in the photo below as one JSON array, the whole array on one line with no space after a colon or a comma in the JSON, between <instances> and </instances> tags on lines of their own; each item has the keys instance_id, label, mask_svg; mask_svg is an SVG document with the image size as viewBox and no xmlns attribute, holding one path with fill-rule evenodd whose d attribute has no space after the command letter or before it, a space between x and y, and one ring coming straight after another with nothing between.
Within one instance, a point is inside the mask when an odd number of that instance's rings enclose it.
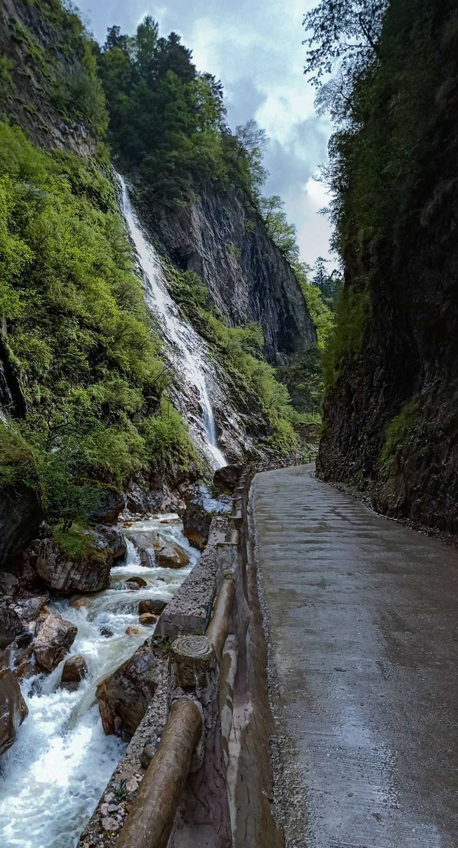
<instances>
[{"instance_id":1,"label":"large brown boulder topped with green moss, left of the small cascade","mask_svg":"<svg viewBox=\"0 0 458 848\"><path fill-rule=\"evenodd\" d=\"M40 544L36 571L55 592L99 592L108 589L113 561L126 553L122 533L107 528L104 533L88 531L78 537L78 553L64 550L59 538L46 538Z\"/></svg>"}]
</instances>

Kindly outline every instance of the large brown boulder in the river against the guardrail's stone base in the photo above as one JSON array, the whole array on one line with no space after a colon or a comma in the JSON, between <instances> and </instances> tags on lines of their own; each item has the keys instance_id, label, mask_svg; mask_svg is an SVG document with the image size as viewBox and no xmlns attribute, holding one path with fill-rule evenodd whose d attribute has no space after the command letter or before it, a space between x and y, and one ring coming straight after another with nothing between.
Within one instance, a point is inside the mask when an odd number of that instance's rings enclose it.
<instances>
[{"instance_id":1,"label":"large brown boulder in the river against the guardrail's stone base","mask_svg":"<svg viewBox=\"0 0 458 848\"><path fill-rule=\"evenodd\" d=\"M98 684L98 708L106 734L131 739L159 682L162 655L147 639L129 660Z\"/></svg>"}]
</instances>

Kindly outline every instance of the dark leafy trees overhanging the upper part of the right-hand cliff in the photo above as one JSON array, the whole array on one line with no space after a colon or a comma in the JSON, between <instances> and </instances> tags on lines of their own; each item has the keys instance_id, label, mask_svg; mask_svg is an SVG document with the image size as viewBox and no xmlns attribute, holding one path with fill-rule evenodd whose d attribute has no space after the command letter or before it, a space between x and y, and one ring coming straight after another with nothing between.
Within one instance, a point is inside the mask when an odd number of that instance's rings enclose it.
<instances>
[{"instance_id":1,"label":"dark leafy trees overhanging the upper part of the right-hand cliff","mask_svg":"<svg viewBox=\"0 0 458 848\"><path fill-rule=\"evenodd\" d=\"M431 151L439 145L444 157L444 142L436 116L444 109L441 126L449 126L453 110L453 78L444 75L444 60L450 57L452 67L456 53L450 9L421 0L323 0L305 18L313 42L306 70L337 127L325 176L333 241L349 281L325 356L329 386L346 365L355 366L371 290L399 285L388 271L393 255L407 233L421 232L437 201ZM332 79L321 86L329 71Z\"/></svg>"}]
</instances>

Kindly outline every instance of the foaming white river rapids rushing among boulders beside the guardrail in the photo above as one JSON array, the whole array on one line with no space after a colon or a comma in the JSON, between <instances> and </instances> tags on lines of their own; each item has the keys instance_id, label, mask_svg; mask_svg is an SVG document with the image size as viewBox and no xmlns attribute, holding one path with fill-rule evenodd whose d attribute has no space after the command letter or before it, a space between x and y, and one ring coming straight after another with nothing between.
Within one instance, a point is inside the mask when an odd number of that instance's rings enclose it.
<instances>
[{"instance_id":1,"label":"foaming white river rapids rushing among boulders beside the guardrail","mask_svg":"<svg viewBox=\"0 0 458 848\"><path fill-rule=\"evenodd\" d=\"M128 542L126 562L111 570L112 583L137 574L147 587L106 589L88 595L89 605L81 609L68 600L50 604L78 628L65 659L84 656L89 676L75 692L58 689L62 662L52 674L22 683L29 715L18 740L0 759L1 848L74 848L126 748L120 739L103 734L94 704L96 686L154 633L154 628L139 624L138 602L170 600L199 557L176 515L133 522L134 530L160 530L187 551L189 564L180 569L141 566ZM129 625L137 626L139 633L126 636ZM102 628L113 635L103 636ZM37 683L42 683L40 694Z\"/></svg>"}]
</instances>

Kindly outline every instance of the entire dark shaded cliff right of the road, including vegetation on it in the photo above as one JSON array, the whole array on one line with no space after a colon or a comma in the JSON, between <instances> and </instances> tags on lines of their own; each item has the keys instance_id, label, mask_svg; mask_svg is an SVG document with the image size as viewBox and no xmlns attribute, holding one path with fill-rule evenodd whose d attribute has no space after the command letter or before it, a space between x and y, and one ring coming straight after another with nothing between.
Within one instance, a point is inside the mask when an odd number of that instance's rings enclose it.
<instances>
[{"instance_id":1,"label":"entire dark shaded cliff right of the road, including vegetation on it","mask_svg":"<svg viewBox=\"0 0 458 848\"><path fill-rule=\"evenodd\" d=\"M455 4L391 3L380 54L371 111L336 144L345 288L317 472L458 533Z\"/></svg>"}]
</instances>

